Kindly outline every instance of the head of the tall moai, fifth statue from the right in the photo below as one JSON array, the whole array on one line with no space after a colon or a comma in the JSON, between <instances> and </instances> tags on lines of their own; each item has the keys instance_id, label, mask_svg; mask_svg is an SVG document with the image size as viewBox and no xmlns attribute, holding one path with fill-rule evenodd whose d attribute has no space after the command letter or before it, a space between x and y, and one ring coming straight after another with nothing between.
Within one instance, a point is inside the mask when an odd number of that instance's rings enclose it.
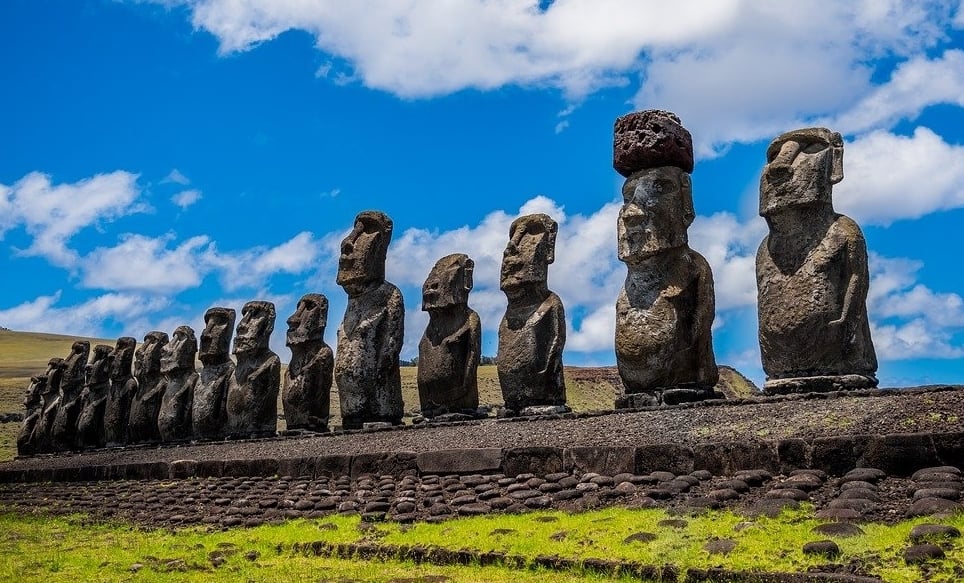
<instances>
[{"instance_id":1,"label":"head of the tall moai, fifth statue from the right","mask_svg":"<svg viewBox=\"0 0 964 583\"><path fill-rule=\"evenodd\" d=\"M385 280L385 258L392 240L392 220L379 211L364 211L341 242L336 283L352 295Z\"/></svg>"}]
</instances>

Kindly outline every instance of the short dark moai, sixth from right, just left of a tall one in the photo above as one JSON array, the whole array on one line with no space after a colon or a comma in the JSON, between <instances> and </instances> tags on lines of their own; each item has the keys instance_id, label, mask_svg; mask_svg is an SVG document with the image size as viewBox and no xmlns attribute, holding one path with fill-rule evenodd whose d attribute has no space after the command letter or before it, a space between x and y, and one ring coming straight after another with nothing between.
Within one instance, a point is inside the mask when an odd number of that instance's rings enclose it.
<instances>
[{"instance_id":1,"label":"short dark moai, sixth from right, just left of a tall one","mask_svg":"<svg viewBox=\"0 0 964 583\"><path fill-rule=\"evenodd\" d=\"M335 357L325 344L328 298L305 294L288 318L285 345L291 362L285 372L281 404L289 431L328 431L331 378Z\"/></svg>"}]
</instances>

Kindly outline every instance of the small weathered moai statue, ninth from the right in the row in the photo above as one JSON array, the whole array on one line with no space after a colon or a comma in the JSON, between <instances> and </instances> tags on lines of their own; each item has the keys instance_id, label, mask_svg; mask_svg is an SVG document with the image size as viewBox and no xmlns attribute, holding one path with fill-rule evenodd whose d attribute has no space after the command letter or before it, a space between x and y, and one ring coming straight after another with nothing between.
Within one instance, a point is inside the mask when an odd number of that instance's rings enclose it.
<instances>
[{"instance_id":1,"label":"small weathered moai statue, ninth from the right in the row","mask_svg":"<svg viewBox=\"0 0 964 583\"><path fill-rule=\"evenodd\" d=\"M178 326L171 340L161 349L161 407L157 411L157 431L161 441L191 438L191 409L198 374L194 369L197 338L190 326Z\"/></svg>"}]
</instances>

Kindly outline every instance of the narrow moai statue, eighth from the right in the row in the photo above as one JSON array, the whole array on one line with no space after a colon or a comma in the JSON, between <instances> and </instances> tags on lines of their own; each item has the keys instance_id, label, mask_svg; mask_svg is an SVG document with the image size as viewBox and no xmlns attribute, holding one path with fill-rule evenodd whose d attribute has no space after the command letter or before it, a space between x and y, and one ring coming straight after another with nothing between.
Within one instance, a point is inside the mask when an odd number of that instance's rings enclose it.
<instances>
[{"instance_id":1,"label":"narrow moai statue, eighth from the right in the row","mask_svg":"<svg viewBox=\"0 0 964 583\"><path fill-rule=\"evenodd\" d=\"M201 332L201 376L194 389L191 422L195 439L221 439L228 423L228 387L234 378L231 335L237 312L214 307L204 313Z\"/></svg>"}]
</instances>

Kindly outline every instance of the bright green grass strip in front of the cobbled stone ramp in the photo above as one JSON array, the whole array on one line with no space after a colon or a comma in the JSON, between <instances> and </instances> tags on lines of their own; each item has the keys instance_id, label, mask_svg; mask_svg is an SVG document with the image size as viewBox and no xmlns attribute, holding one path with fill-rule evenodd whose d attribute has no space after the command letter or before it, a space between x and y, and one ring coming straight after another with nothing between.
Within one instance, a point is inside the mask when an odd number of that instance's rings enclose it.
<instances>
[{"instance_id":1,"label":"bright green grass strip in front of the cobbled stone ramp","mask_svg":"<svg viewBox=\"0 0 964 583\"><path fill-rule=\"evenodd\" d=\"M358 517L332 516L296 520L277 526L207 532L146 530L116 523L92 523L83 517L45 518L0 514L0 580L4 581L417 581L445 576L453 581L597 581L592 573L556 573L506 567L440 567L404 561L341 560L294 552L295 543L369 542L434 546L449 550L498 551L529 560L537 556L601 558L686 568L724 567L737 571L802 572L826 559L805 556L804 543L826 538L811 529L820 524L809 509L777 518L747 519L729 511L682 517L686 526L661 525L670 518L659 509L606 510L565 514L540 512L493 515L438 524L362 524ZM679 517L673 517L679 518ZM888 582L910 583L925 577L901 557L907 535L924 519L896 525L862 525L865 533L838 538L841 564L856 564ZM964 529L964 516L942 522ZM624 542L648 532L651 542ZM704 545L730 539L727 555L711 555ZM928 581L961 577L961 543L947 558L926 567ZM220 559L219 559L220 558ZM224 563L216 566L215 562ZM139 565L139 567L137 566ZM132 574L132 568L137 571ZM438 580L438 579L436 579Z\"/></svg>"}]
</instances>

